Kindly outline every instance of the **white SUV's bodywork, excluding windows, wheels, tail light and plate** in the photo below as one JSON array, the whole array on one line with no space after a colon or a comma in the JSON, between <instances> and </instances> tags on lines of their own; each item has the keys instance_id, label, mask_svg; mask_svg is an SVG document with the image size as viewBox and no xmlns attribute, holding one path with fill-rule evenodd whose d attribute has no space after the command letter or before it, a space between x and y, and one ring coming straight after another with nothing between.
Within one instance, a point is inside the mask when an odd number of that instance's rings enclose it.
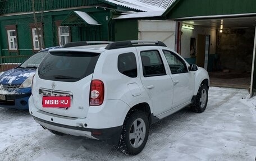
<instances>
[{"instance_id":1,"label":"white SUV's bodywork, excluding windows, wheels, tail light and plate","mask_svg":"<svg viewBox=\"0 0 256 161\"><path fill-rule=\"evenodd\" d=\"M53 81L40 79L38 71L33 79L32 95L29 99L29 112L36 122L44 128L75 136L86 136L92 139L109 139L112 136L98 137L93 131L112 128L120 136L120 129L127 114L134 107L149 107L150 121L162 119L193 103L202 82L208 82L207 71L198 67L197 71L189 71L189 64L175 51L154 46L126 47L104 49L106 45L89 45L84 47L60 48L50 50L70 52L100 53L92 74L75 82ZM143 66L140 52L158 50L166 71L166 75L143 76ZM188 72L172 74L162 50L171 50L186 64ZM118 71L118 56L124 53L134 53L136 58L137 76L129 77ZM82 69L81 69L82 70ZM92 80L100 80L104 84L103 104L90 106L90 84ZM207 81L205 81L207 80ZM54 82L54 88L52 86ZM43 108L40 90L66 91L72 94L71 107ZM80 130L79 130L80 129ZM106 131L104 131L106 132ZM103 134L105 135L106 133ZM114 134L113 134L114 135Z\"/></svg>"}]
</instances>

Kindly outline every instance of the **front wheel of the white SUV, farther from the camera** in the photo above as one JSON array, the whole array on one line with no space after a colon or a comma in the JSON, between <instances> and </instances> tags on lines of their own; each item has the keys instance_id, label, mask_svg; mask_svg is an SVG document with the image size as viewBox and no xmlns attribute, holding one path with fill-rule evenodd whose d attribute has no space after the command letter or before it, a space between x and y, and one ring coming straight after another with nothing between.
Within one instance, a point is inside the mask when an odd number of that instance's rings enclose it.
<instances>
[{"instance_id":1,"label":"front wheel of the white SUV, farther from the camera","mask_svg":"<svg viewBox=\"0 0 256 161\"><path fill-rule=\"evenodd\" d=\"M194 112L202 113L207 107L208 103L208 88L207 85L201 84L196 94L195 105L193 107Z\"/></svg>"}]
</instances>

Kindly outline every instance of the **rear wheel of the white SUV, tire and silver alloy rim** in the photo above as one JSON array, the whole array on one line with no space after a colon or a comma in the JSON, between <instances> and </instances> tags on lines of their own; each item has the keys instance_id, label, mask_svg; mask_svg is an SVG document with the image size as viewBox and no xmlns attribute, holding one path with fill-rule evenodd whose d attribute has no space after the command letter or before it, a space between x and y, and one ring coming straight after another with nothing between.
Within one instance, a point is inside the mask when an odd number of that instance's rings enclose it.
<instances>
[{"instance_id":1,"label":"rear wheel of the white SUV, tire and silver alloy rim","mask_svg":"<svg viewBox=\"0 0 256 161\"><path fill-rule=\"evenodd\" d=\"M144 112L134 111L125 119L118 148L125 154L136 155L145 147L149 121Z\"/></svg>"}]
</instances>

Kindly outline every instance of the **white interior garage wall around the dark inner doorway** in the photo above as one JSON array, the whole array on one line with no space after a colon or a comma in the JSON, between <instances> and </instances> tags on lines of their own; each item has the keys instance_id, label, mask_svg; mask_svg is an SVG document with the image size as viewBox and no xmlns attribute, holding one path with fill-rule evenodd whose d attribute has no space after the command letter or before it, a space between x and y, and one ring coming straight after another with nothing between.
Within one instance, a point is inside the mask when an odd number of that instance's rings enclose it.
<instances>
[{"instance_id":1,"label":"white interior garage wall around the dark inner doorway","mask_svg":"<svg viewBox=\"0 0 256 161\"><path fill-rule=\"evenodd\" d=\"M190 29L181 29L182 35L181 35L181 56L184 58L189 58L190 53L190 38L195 38L197 43L197 36L198 34L202 35L211 35L210 40L210 51L209 54L215 54L216 52L216 30L200 27L200 26L194 26L194 30Z\"/></svg>"}]
</instances>

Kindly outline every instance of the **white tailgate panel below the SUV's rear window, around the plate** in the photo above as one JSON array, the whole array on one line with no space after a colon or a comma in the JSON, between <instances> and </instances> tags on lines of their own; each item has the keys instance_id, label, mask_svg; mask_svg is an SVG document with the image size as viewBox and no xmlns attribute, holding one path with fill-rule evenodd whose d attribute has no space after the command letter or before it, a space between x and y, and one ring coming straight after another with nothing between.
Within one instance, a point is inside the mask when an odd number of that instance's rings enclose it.
<instances>
[{"instance_id":1,"label":"white tailgate panel below the SUV's rear window, around the plate","mask_svg":"<svg viewBox=\"0 0 256 161\"><path fill-rule=\"evenodd\" d=\"M90 94L89 90L90 90L90 81L92 80L92 76L93 75L89 75L84 79L76 82L61 82L61 81L40 79L38 76L38 72L36 72L36 75L33 80L34 85L32 88L35 107L48 113L54 113L54 114L63 115L67 117L85 118L87 116L88 109L89 109L89 94ZM37 83L38 80L40 80L39 84ZM54 89L52 88L53 82L55 84ZM42 107L43 95L39 94L40 89L72 93L71 107L68 109L43 108Z\"/></svg>"}]
</instances>

